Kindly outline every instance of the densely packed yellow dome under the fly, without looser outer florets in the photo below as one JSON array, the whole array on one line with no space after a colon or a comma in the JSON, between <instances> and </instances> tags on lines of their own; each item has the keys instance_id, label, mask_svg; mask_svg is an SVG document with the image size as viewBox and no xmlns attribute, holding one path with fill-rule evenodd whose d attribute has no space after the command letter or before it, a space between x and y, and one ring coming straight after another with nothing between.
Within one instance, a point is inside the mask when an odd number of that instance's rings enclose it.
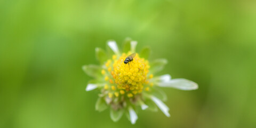
<instances>
[{"instance_id":1,"label":"densely packed yellow dome under the fly, without looser outer florets","mask_svg":"<svg viewBox=\"0 0 256 128\"><path fill-rule=\"evenodd\" d=\"M148 61L135 55L132 62L124 63L125 58L130 54L123 53L118 60L113 63L114 72L111 73L119 90L125 90L133 94L140 93L143 84L146 82L148 74ZM129 96L132 96L132 94Z\"/></svg>"}]
</instances>

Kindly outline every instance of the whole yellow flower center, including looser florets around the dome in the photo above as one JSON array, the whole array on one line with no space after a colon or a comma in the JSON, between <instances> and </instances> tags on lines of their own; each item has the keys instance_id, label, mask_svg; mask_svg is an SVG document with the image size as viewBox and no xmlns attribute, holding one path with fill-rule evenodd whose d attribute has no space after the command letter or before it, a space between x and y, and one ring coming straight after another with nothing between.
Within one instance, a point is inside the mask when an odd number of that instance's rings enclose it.
<instances>
[{"instance_id":1,"label":"whole yellow flower center, including looser florets around the dome","mask_svg":"<svg viewBox=\"0 0 256 128\"><path fill-rule=\"evenodd\" d=\"M143 86L149 86L147 77L153 77L153 75L147 76L149 71L148 61L136 54L132 62L125 64L124 60L130 54L131 52L123 53L119 58L113 55L112 59L105 63L106 68L101 71L107 82L103 88L107 91L109 98L124 94L130 98L141 93L143 88L146 91L149 90L148 87Z\"/></svg>"}]
</instances>

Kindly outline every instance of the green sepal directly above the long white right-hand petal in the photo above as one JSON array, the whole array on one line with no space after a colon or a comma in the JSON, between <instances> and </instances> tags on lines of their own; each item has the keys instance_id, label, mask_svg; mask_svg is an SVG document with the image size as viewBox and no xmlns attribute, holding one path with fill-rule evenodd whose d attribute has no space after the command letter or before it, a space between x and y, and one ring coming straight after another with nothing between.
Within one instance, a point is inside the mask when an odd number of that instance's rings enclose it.
<instances>
[{"instance_id":1,"label":"green sepal directly above the long white right-hand petal","mask_svg":"<svg viewBox=\"0 0 256 128\"><path fill-rule=\"evenodd\" d=\"M167 64L167 60L166 59L156 59L153 62L150 63L150 73L151 74L155 74L158 71L163 70L164 66Z\"/></svg>"}]
</instances>

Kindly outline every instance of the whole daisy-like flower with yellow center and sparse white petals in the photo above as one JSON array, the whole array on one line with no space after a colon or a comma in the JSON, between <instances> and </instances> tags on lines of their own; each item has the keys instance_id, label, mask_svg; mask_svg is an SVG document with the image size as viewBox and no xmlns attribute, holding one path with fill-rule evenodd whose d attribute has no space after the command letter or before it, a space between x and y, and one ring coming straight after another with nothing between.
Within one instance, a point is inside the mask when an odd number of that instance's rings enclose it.
<instances>
[{"instance_id":1,"label":"whole daisy-like flower with yellow center and sparse white petals","mask_svg":"<svg viewBox=\"0 0 256 128\"><path fill-rule=\"evenodd\" d=\"M103 111L109 107L110 117L114 122L125 113L131 123L135 124L138 119L135 111L138 107L153 111L158 107L170 117L169 107L163 102L166 101L166 95L159 88L198 89L196 83L184 78L171 79L169 74L154 76L163 69L167 60L157 59L149 62L147 60L150 54L149 47L142 49L139 54L135 52L137 42L126 39L121 53L115 41L109 41L107 44L108 52L98 47L95 49L100 66L86 65L83 66L83 70L87 75L94 77L89 81L86 91L95 89L100 91L95 109ZM132 53L135 53L135 57L125 64L124 60Z\"/></svg>"}]
</instances>

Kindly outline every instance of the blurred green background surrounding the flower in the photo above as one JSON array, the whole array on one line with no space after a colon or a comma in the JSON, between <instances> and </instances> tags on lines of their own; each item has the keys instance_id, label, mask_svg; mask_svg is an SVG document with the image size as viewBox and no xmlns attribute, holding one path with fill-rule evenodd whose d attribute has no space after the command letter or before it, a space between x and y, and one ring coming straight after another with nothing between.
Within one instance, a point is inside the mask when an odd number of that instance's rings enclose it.
<instances>
[{"instance_id":1,"label":"blurred green background surrounding the flower","mask_svg":"<svg viewBox=\"0 0 256 128\"><path fill-rule=\"evenodd\" d=\"M256 2L0 1L0 127L256 127ZM159 73L196 91L164 89L171 117L139 111L137 124L94 105L83 65L95 47L126 37L166 58Z\"/></svg>"}]
</instances>

